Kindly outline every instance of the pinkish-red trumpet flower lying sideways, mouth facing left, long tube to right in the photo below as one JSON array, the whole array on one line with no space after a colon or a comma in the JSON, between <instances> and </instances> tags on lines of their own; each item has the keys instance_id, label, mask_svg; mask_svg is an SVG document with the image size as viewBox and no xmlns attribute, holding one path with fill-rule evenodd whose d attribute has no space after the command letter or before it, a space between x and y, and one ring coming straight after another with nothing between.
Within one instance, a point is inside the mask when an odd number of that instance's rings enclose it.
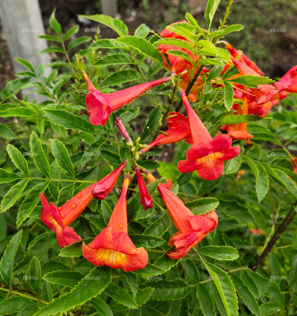
<instances>
[{"instance_id":1,"label":"pinkish-red trumpet flower lying sideways, mouth facing left, long tube to right","mask_svg":"<svg viewBox=\"0 0 297 316\"><path fill-rule=\"evenodd\" d=\"M164 83L172 79L172 76L174 76L174 74L172 74L170 77L158 79L152 82L141 83L134 87L104 94L97 90L90 81L88 75L85 72L83 73L89 89L89 92L86 95L85 103L89 109L88 113L90 114L90 123L94 125L105 125L112 111L119 109L139 97L140 94L143 94L148 89Z\"/></svg>"}]
</instances>

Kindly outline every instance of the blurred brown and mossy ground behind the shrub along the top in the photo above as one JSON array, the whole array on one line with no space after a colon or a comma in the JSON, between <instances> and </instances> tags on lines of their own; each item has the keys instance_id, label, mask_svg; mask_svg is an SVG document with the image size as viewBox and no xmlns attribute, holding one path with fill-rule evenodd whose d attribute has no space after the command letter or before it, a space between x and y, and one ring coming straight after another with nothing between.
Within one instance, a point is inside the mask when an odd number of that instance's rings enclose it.
<instances>
[{"instance_id":1,"label":"blurred brown and mossy ground behind the shrub along the top","mask_svg":"<svg viewBox=\"0 0 297 316\"><path fill-rule=\"evenodd\" d=\"M184 18L187 11L204 26L203 12L206 0L119 0L117 11L128 26L129 33L145 23L156 32L166 25ZM222 19L227 5L222 0L214 17L215 29ZM40 0L45 28L49 31L50 12L57 7L56 17L64 32L74 24L80 24L79 35L93 36L96 23L84 24L79 14L101 13L100 1L94 0ZM244 30L228 35L227 40L236 48L244 50L272 78L282 76L297 64L297 1L284 0L235 0L228 24L242 24ZM108 27L101 27L102 37L114 37ZM13 78L13 69L5 38L0 28L0 88Z\"/></svg>"}]
</instances>

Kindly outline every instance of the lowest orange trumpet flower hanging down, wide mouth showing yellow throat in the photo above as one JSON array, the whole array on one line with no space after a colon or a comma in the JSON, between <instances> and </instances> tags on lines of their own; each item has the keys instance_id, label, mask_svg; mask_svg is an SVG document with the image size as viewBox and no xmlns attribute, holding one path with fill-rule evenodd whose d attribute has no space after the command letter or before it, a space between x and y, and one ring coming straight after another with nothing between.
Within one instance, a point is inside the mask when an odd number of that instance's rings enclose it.
<instances>
[{"instance_id":1,"label":"lowest orange trumpet flower hanging down, wide mouth showing yellow throat","mask_svg":"<svg viewBox=\"0 0 297 316\"><path fill-rule=\"evenodd\" d=\"M83 256L92 264L120 268L125 272L142 269L148 262L145 249L136 248L127 234L126 195L129 178L130 175L124 179L121 195L107 226L89 245L83 242L82 247Z\"/></svg>"}]
</instances>

